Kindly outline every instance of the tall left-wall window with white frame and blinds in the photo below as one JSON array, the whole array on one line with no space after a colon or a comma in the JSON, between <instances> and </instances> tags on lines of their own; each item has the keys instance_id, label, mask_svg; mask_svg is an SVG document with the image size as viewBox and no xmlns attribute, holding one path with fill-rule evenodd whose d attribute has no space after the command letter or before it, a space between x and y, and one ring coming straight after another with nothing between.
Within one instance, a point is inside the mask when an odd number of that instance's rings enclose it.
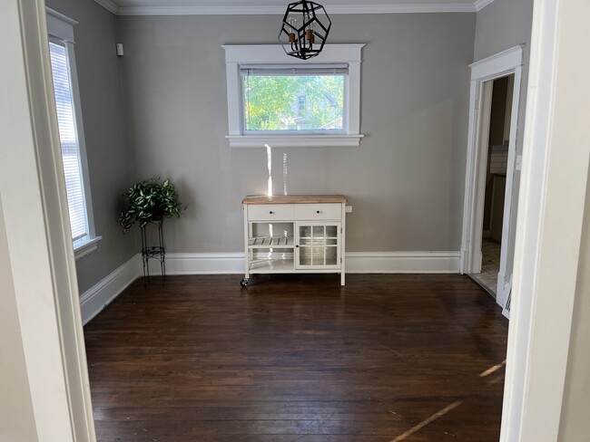
<instances>
[{"instance_id":1,"label":"tall left-wall window with white frame and blinds","mask_svg":"<svg viewBox=\"0 0 590 442\"><path fill-rule=\"evenodd\" d=\"M75 22L48 11L49 55L54 82L55 107L64 164L65 190L76 259L96 249L84 130L80 115L74 61Z\"/></svg>"}]
</instances>

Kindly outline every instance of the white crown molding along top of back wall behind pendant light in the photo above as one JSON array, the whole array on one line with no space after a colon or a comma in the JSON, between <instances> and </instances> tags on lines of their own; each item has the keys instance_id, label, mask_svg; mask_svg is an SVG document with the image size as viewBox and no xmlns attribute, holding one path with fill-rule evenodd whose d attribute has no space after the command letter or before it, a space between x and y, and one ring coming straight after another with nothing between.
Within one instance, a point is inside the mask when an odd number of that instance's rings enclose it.
<instances>
[{"instance_id":1,"label":"white crown molding along top of back wall behind pendant light","mask_svg":"<svg viewBox=\"0 0 590 442\"><path fill-rule=\"evenodd\" d=\"M110 0L94 0L99 4ZM479 0L491 2L492 0ZM106 6L105 6L106 7ZM482 6L483 7L483 6ZM107 8L108 9L108 8ZM285 13L285 6L122 6L117 15L263 15ZM474 5L446 3L439 5L327 5L329 14L413 14L413 13L475 13Z\"/></svg>"}]
</instances>

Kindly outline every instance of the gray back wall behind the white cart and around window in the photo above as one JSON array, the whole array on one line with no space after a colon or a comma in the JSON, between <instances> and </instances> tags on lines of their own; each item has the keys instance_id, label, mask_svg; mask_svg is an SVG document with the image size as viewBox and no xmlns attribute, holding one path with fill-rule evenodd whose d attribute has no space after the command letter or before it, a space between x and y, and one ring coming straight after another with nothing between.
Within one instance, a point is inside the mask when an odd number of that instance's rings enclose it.
<instances>
[{"instance_id":1,"label":"gray back wall behind the white cart and around window","mask_svg":"<svg viewBox=\"0 0 590 442\"><path fill-rule=\"evenodd\" d=\"M272 149L274 192L342 193L349 251L459 249L475 14L335 15L363 49L359 148ZM241 198L266 192L264 149L231 149L221 44L275 43L279 16L121 16L123 89L143 178L189 206L171 252L242 248Z\"/></svg>"}]
</instances>

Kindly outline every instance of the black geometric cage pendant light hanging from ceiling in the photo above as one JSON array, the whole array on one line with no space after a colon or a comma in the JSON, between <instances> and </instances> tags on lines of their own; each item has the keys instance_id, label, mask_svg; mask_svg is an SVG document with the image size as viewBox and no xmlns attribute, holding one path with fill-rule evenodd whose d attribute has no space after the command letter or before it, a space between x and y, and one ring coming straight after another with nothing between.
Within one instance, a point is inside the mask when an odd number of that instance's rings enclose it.
<instances>
[{"instance_id":1,"label":"black geometric cage pendant light hanging from ceiling","mask_svg":"<svg viewBox=\"0 0 590 442\"><path fill-rule=\"evenodd\" d=\"M279 42L287 55L307 60L324 48L331 25L322 5L307 0L290 3L280 25Z\"/></svg>"}]
</instances>

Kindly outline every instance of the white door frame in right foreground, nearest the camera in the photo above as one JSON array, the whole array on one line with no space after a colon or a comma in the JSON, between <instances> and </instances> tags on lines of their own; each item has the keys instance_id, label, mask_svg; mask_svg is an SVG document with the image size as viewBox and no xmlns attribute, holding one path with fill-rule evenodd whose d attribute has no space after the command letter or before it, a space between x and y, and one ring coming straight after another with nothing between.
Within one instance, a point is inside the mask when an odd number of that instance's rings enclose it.
<instances>
[{"instance_id":1,"label":"white door frame in right foreground, nearest the camera","mask_svg":"<svg viewBox=\"0 0 590 442\"><path fill-rule=\"evenodd\" d=\"M590 160L588 14L576 0L533 6L501 442L563 438Z\"/></svg>"}]
</instances>

